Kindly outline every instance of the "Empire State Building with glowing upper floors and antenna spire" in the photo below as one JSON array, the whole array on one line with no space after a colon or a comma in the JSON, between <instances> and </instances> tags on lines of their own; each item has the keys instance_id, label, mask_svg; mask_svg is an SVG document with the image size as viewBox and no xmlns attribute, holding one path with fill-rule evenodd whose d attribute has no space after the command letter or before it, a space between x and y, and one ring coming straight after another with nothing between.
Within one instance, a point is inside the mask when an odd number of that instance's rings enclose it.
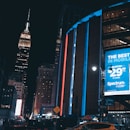
<instances>
[{"instance_id":1,"label":"Empire State Building with glowing upper floors and antenna spire","mask_svg":"<svg viewBox=\"0 0 130 130\"><path fill-rule=\"evenodd\" d=\"M22 83L26 88L27 81L27 69L28 69L28 61L29 61L29 51L31 47L31 35L29 32L29 18L30 18L30 10L28 12L28 18L26 22L26 28L21 33L19 42L18 42L18 53L15 64L15 72L19 72L22 75Z\"/></svg>"}]
</instances>

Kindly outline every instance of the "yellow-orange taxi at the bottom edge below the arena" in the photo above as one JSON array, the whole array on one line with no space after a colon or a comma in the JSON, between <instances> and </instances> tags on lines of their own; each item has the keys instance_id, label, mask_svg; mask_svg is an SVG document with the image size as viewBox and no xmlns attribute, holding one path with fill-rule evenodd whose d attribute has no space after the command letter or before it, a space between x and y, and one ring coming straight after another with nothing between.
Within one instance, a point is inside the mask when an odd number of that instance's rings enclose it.
<instances>
[{"instance_id":1,"label":"yellow-orange taxi at the bottom edge below the arena","mask_svg":"<svg viewBox=\"0 0 130 130\"><path fill-rule=\"evenodd\" d=\"M77 125L71 130L117 130L115 125L108 122L87 122Z\"/></svg>"}]
</instances>

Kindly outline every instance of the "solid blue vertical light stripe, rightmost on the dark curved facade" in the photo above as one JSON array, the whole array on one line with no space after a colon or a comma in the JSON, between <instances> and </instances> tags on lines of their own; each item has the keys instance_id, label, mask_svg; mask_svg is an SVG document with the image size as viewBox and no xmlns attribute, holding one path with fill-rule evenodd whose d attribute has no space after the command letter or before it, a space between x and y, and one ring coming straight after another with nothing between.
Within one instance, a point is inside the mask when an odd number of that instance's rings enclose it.
<instances>
[{"instance_id":1,"label":"solid blue vertical light stripe, rightmost on the dark curved facade","mask_svg":"<svg viewBox=\"0 0 130 130\"><path fill-rule=\"evenodd\" d=\"M89 22L86 23L86 37L85 37L85 47L84 47L84 65L83 65L83 86L82 86L82 108L81 108L81 116L85 116L85 114L86 114L88 42L89 42Z\"/></svg>"}]
</instances>

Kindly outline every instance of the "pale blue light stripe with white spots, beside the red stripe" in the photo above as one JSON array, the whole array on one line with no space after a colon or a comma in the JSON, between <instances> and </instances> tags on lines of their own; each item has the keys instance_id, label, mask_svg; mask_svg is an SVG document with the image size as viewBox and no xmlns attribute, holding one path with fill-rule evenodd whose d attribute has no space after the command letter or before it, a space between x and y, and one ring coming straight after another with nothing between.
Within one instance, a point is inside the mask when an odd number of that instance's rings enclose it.
<instances>
[{"instance_id":1,"label":"pale blue light stripe with white spots, beside the red stripe","mask_svg":"<svg viewBox=\"0 0 130 130\"><path fill-rule=\"evenodd\" d=\"M73 88L74 88L74 69L75 69L75 54L76 54L76 36L77 29L74 29L73 33L73 47L72 47L72 68L71 68L71 80L70 80L70 98L69 98L69 115L72 114L73 103Z\"/></svg>"}]
</instances>

